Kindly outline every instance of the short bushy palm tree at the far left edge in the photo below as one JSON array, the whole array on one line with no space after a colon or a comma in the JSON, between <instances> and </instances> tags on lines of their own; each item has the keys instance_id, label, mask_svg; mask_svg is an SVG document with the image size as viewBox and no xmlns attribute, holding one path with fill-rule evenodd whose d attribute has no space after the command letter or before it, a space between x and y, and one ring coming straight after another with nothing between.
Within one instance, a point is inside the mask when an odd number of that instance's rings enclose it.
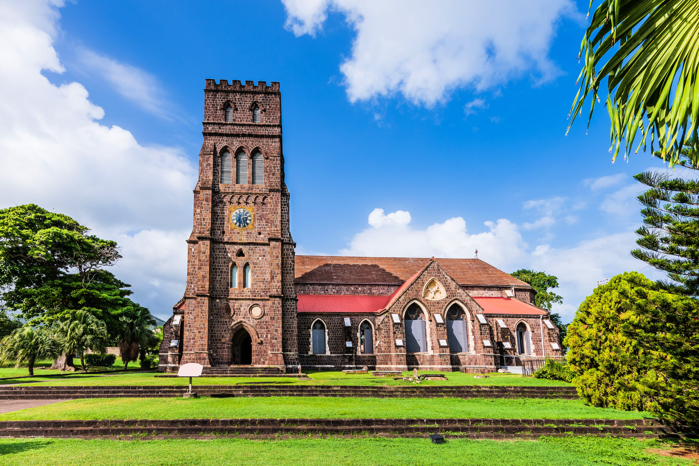
<instances>
[{"instance_id":1,"label":"short bushy palm tree at the far left edge","mask_svg":"<svg viewBox=\"0 0 699 466\"><path fill-rule=\"evenodd\" d=\"M34 363L41 359L53 359L61 354L61 347L46 328L24 326L0 340L0 363L26 364L29 375L34 375Z\"/></svg>"}]
</instances>

